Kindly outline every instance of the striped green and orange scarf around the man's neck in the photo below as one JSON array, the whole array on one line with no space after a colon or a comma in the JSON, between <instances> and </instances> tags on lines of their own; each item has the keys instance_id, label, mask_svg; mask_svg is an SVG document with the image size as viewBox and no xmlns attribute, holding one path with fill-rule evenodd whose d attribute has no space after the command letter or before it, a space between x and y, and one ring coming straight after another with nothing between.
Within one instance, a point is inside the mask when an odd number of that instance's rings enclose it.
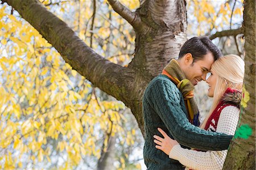
<instances>
[{"instance_id":1,"label":"striped green and orange scarf around the man's neck","mask_svg":"<svg viewBox=\"0 0 256 170\"><path fill-rule=\"evenodd\" d=\"M172 59L166 67L164 67L162 74L171 78L172 82L177 86L177 88L182 93L185 101L185 106L188 111L188 119L195 126L199 126L199 110L196 105L195 98L193 97L194 86L192 83L186 79L183 71L181 70L179 63Z\"/></svg>"}]
</instances>

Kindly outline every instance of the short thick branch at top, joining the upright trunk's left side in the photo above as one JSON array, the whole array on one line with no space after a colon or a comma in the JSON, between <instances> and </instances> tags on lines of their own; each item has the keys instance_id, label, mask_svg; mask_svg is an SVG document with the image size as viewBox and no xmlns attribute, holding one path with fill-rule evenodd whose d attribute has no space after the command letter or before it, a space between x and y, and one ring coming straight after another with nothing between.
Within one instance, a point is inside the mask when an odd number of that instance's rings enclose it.
<instances>
[{"instance_id":1,"label":"short thick branch at top, joining the upright trunk's left side","mask_svg":"<svg viewBox=\"0 0 256 170\"><path fill-rule=\"evenodd\" d=\"M122 18L127 20L135 30L139 32L145 30L145 27L147 27L146 24L142 22L141 18L136 13L131 12L118 0L108 0L108 2L112 6L113 10L121 15Z\"/></svg>"}]
</instances>

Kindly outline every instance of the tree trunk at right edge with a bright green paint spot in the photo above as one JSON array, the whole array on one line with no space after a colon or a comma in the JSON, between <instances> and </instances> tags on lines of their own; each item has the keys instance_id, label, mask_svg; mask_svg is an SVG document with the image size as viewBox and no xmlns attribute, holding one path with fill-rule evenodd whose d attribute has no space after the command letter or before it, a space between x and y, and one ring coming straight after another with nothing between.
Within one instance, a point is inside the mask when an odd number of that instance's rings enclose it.
<instances>
[{"instance_id":1,"label":"tree trunk at right edge with a bright green paint spot","mask_svg":"<svg viewBox=\"0 0 256 170\"><path fill-rule=\"evenodd\" d=\"M223 169L255 169L255 1L245 1L245 78L240 121Z\"/></svg>"}]
</instances>

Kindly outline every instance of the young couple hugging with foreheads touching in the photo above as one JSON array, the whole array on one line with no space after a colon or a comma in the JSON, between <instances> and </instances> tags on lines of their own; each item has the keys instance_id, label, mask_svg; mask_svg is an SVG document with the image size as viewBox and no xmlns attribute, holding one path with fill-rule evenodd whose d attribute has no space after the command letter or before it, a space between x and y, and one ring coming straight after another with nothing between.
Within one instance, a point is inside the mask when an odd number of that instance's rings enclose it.
<instances>
[{"instance_id":1,"label":"young couple hugging with foreheads touching","mask_svg":"<svg viewBox=\"0 0 256 170\"><path fill-rule=\"evenodd\" d=\"M181 47L143 96L147 169L222 169L240 115L245 71L237 55L222 56L209 38ZM202 125L194 86L208 83L213 104Z\"/></svg>"}]
</instances>

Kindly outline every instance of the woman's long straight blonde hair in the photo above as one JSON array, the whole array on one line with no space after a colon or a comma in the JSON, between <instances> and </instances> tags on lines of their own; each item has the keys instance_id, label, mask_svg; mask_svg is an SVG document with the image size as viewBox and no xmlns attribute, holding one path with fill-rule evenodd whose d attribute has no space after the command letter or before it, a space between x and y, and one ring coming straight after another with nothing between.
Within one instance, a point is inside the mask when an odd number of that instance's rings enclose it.
<instances>
[{"instance_id":1,"label":"woman's long straight blonde hair","mask_svg":"<svg viewBox=\"0 0 256 170\"><path fill-rule=\"evenodd\" d=\"M245 63L240 56L226 55L214 61L212 71L217 74L216 85L213 93L213 104L208 115L205 117L201 128L204 128L208 118L220 102L226 89L232 88L242 91Z\"/></svg>"}]
</instances>

